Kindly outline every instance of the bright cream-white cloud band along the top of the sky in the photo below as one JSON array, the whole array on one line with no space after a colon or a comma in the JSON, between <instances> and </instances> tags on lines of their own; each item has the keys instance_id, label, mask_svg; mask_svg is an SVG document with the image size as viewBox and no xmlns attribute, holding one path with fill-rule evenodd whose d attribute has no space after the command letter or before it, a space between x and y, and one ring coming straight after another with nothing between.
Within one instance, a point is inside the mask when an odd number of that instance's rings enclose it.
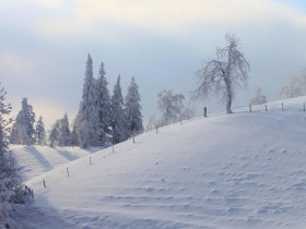
<instances>
[{"instance_id":1,"label":"bright cream-white cloud band along the top of the sky","mask_svg":"<svg viewBox=\"0 0 306 229\"><path fill-rule=\"evenodd\" d=\"M57 14L63 7L58 5ZM306 27L306 16L301 11L267 0L87 0L75 1L66 10L68 15L37 22L38 32L47 36L73 37L93 32L92 36L95 36L105 35L111 26L119 25L148 33L181 35L190 26L247 23L272 25L283 21Z\"/></svg>"}]
</instances>

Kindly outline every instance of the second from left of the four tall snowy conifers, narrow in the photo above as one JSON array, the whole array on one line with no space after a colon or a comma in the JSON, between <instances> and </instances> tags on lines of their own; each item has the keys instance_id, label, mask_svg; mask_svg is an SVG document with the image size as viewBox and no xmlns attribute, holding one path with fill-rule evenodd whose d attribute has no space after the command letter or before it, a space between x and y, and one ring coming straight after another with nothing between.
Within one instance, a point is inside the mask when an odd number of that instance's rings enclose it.
<instances>
[{"instance_id":1,"label":"second from left of the four tall snowy conifers, narrow","mask_svg":"<svg viewBox=\"0 0 306 229\"><path fill-rule=\"evenodd\" d=\"M104 63L99 65L99 77L96 81L96 99L98 109L98 119L101 126L101 143L105 144L107 141L106 133L108 128L111 126L111 107L110 107L110 96L107 88L107 80L105 77Z\"/></svg>"}]
</instances>

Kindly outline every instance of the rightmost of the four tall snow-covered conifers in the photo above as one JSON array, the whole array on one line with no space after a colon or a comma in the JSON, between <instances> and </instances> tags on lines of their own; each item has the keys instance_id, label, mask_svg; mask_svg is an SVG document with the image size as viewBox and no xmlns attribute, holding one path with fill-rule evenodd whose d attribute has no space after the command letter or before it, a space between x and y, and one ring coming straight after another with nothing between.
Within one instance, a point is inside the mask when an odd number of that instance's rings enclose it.
<instances>
[{"instance_id":1,"label":"rightmost of the four tall snow-covered conifers","mask_svg":"<svg viewBox=\"0 0 306 229\"><path fill-rule=\"evenodd\" d=\"M132 77L128 87L128 94L125 98L125 114L128 136L143 131L140 99L138 85L134 77Z\"/></svg>"}]
</instances>

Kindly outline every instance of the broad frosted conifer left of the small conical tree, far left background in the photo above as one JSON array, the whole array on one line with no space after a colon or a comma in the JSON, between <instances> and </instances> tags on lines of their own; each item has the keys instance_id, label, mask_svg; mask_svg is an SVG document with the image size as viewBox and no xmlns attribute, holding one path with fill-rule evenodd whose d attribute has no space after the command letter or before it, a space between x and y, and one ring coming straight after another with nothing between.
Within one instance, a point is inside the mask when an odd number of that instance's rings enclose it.
<instances>
[{"instance_id":1,"label":"broad frosted conifer left of the small conical tree, far left background","mask_svg":"<svg viewBox=\"0 0 306 229\"><path fill-rule=\"evenodd\" d=\"M32 145L35 143L35 113L33 107L23 98L22 109L19 112L11 132L11 143L20 145Z\"/></svg>"}]
</instances>

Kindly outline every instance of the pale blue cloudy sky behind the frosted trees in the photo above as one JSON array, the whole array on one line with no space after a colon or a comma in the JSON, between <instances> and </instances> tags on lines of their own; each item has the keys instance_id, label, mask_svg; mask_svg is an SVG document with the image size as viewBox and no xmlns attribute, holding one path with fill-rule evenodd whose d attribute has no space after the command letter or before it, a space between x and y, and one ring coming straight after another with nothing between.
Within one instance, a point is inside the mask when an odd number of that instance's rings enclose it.
<instances>
[{"instance_id":1,"label":"pale blue cloudy sky behind the frosted trees","mask_svg":"<svg viewBox=\"0 0 306 229\"><path fill-rule=\"evenodd\" d=\"M278 99L289 77L306 68L302 0L0 0L0 82L12 114L27 97L47 129L64 112L70 121L76 116L87 53L95 77L104 62L110 94L118 74L123 96L136 77L144 122L160 116L164 88L189 104L195 72L215 58L228 33L251 67L234 107L247 105L257 86ZM216 104L198 103L197 111L224 110Z\"/></svg>"}]
</instances>

